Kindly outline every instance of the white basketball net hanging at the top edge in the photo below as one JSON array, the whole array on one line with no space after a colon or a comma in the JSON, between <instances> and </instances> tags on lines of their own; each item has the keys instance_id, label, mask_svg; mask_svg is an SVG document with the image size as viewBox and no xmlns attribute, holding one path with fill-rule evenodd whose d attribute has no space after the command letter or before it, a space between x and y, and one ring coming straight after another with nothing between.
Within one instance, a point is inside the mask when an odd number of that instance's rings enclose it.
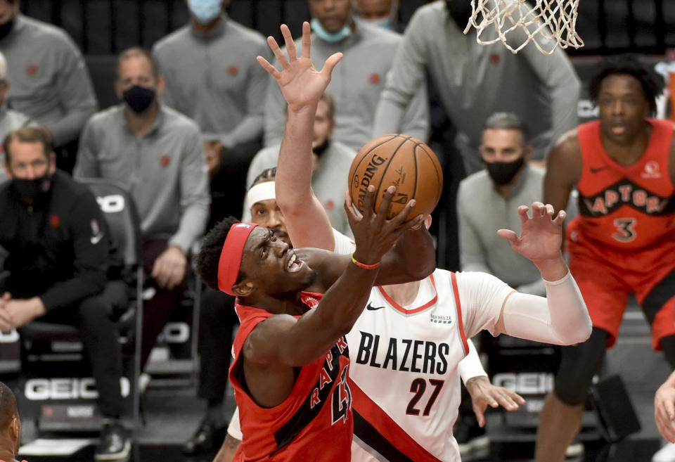
<instances>
[{"instance_id":1,"label":"white basketball net hanging at the top edge","mask_svg":"<svg viewBox=\"0 0 675 462\"><path fill-rule=\"evenodd\" d=\"M581 48L584 41L576 30L578 7L579 0L536 0L534 8L525 0L471 0L471 19L464 33L475 27L479 44L501 41L514 54L530 41L546 55L553 53L557 46ZM496 38L494 34L484 34L490 25L494 26ZM525 35L513 34L518 28ZM508 40L509 34L511 40ZM520 44L513 43L520 40Z\"/></svg>"}]
</instances>

